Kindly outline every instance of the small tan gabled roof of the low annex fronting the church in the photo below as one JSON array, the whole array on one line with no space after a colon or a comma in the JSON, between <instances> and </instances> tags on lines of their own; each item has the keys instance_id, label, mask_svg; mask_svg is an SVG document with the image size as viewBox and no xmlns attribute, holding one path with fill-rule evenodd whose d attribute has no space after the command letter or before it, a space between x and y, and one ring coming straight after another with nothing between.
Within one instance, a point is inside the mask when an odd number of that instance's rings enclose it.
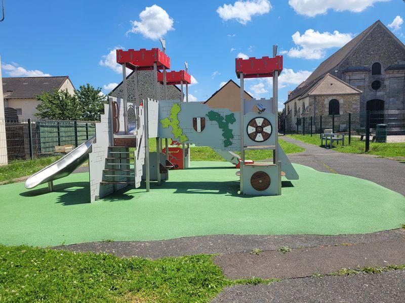
<instances>
[{"instance_id":1,"label":"small tan gabled roof of the low annex fronting the church","mask_svg":"<svg viewBox=\"0 0 405 303\"><path fill-rule=\"evenodd\" d=\"M329 94L359 94L360 89L346 83L345 81L331 74L326 74L308 92L301 98L307 95L329 95Z\"/></svg>"}]
</instances>

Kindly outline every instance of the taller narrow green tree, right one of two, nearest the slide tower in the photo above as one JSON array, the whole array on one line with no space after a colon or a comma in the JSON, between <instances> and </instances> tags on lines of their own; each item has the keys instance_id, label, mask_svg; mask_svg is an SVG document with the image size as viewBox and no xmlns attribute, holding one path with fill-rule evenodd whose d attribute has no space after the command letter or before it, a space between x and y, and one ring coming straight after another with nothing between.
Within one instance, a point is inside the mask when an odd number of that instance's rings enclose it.
<instances>
[{"instance_id":1,"label":"taller narrow green tree, right one of two, nearest the slide tower","mask_svg":"<svg viewBox=\"0 0 405 303\"><path fill-rule=\"evenodd\" d=\"M101 88L97 89L89 83L80 85L76 91L77 99L82 105L83 121L100 121L100 115L104 112L105 96L101 92Z\"/></svg>"}]
</instances>

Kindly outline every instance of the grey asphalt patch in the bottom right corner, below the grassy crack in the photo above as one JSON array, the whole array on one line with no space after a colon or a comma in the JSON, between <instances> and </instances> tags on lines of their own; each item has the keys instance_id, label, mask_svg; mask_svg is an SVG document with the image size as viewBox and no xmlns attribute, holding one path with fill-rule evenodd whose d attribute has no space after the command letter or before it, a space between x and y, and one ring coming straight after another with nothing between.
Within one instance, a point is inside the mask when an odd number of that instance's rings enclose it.
<instances>
[{"instance_id":1,"label":"grey asphalt patch in the bottom right corner, below the grassy crack","mask_svg":"<svg viewBox=\"0 0 405 303\"><path fill-rule=\"evenodd\" d=\"M405 271L290 279L225 289L219 302L405 302Z\"/></svg>"}]
</instances>

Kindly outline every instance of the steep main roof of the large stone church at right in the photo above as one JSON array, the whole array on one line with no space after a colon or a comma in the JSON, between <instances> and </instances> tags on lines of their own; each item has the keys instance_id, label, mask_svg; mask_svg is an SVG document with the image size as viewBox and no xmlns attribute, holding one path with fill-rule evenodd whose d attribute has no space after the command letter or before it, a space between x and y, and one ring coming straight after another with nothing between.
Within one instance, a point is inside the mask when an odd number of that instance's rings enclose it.
<instances>
[{"instance_id":1,"label":"steep main roof of the large stone church at right","mask_svg":"<svg viewBox=\"0 0 405 303\"><path fill-rule=\"evenodd\" d=\"M297 86L296 89L292 91L285 104L307 93L308 90L311 89L320 78L342 63L377 25L381 25L400 45L402 45L402 47L405 48L405 45L403 45L403 43L380 20L377 20L371 26L363 30L360 34L345 44L342 48L340 48L335 54L323 61L304 82L302 82Z\"/></svg>"}]
</instances>

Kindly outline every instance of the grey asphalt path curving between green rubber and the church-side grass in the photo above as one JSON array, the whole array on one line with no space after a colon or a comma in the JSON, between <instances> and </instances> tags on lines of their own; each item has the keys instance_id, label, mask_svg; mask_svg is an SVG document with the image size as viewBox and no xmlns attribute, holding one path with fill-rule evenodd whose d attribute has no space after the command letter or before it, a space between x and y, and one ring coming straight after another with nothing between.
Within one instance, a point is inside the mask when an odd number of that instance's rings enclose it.
<instances>
[{"instance_id":1,"label":"grey asphalt path curving between green rubber and the church-side grass","mask_svg":"<svg viewBox=\"0 0 405 303\"><path fill-rule=\"evenodd\" d=\"M322 172L370 180L405 195L405 163L372 155L339 153L333 149L307 144L287 136L282 139L306 149L302 153L287 155L293 163L306 165Z\"/></svg>"}]
</instances>

